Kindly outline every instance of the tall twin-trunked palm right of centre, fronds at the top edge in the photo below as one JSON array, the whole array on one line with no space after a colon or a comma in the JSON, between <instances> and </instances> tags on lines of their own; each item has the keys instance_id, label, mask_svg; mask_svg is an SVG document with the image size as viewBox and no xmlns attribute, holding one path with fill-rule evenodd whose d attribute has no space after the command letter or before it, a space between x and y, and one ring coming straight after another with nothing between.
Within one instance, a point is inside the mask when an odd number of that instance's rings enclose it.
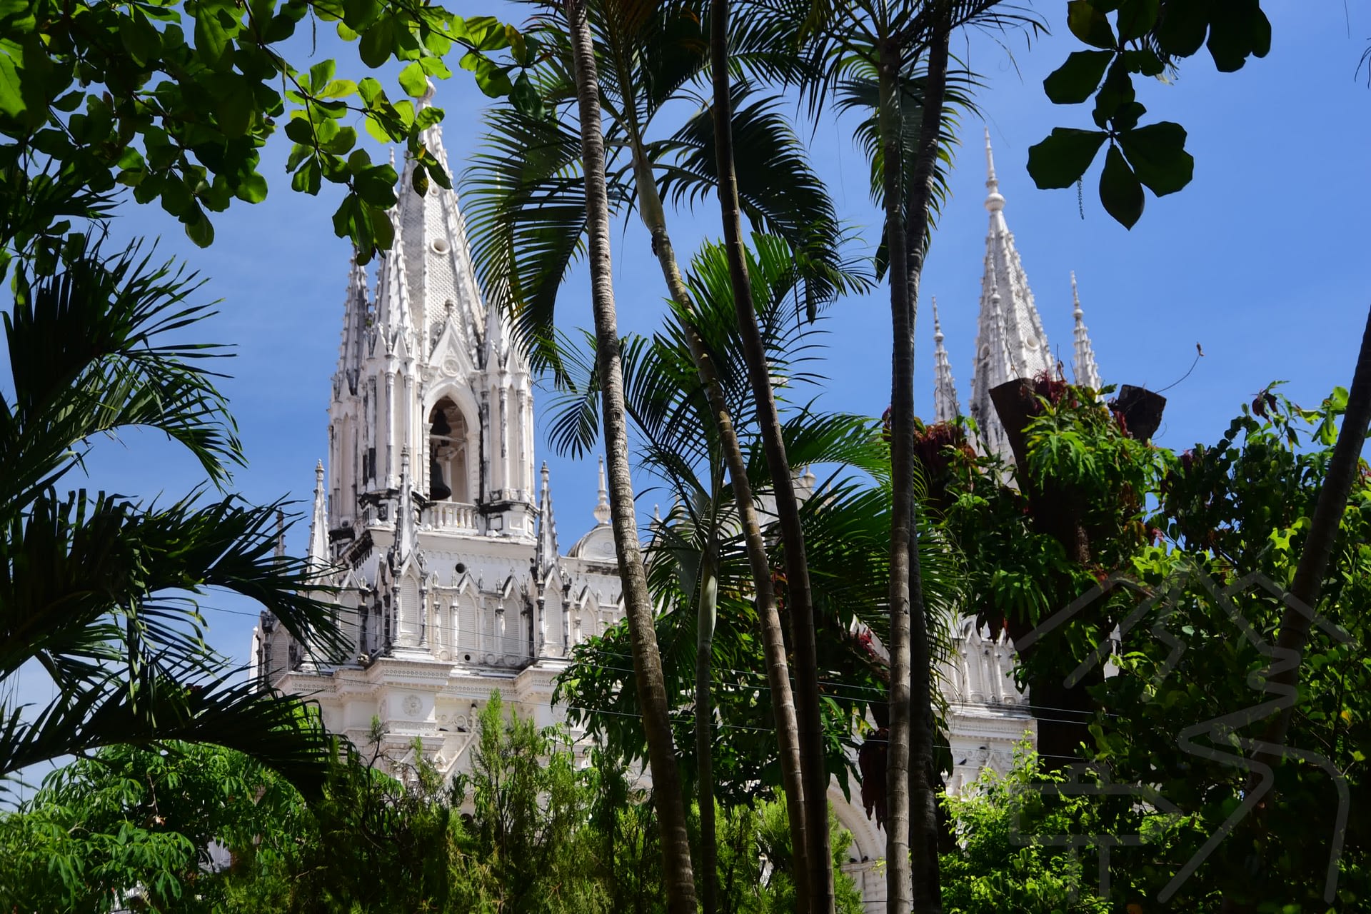
<instances>
[{"instance_id":1,"label":"tall twin-trunked palm right of centre, fronds at the top edge","mask_svg":"<svg viewBox=\"0 0 1371 914\"><path fill-rule=\"evenodd\" d=\"M713 0L721 12L727 0ZM941 910L938 888L936 799L932 752L932 662L923 595L914 497L913 344L919 278L928 227L949 162L949 40L965 25L1004 27L1021 16L995 10L1001 0L754 0L760 29L784 33L810 62L802 73L817 78L802 85L812 110L838 90L847 107L854 92L871 96L875 112L860 127L880 175L879 197L884 240L877 267L891 274L891 407L890 436L893 500L890 530L891 702L887 754L887 887L890 910ZM727 47L716 42L716 110L727 111ZM913 78L923 62L923 77ZM875 86L869 75L875 74ZM856 77L856 78L854 78ZM846 97L843 97L846 93ZM910 104L916 101L916 104ZM906 111L908 110L908 111ZM910 116L919 111L914 121ZM917 125L917 126L916 126ZM723 144L721 144L723 148ZM720 173L727 171L721 162ZM724 211L725 233L736 215ZM758 366L760 367L760 366ZM758 377L758 396L762 396ZM775 449L775 448L773 448ZM777 460L779 465L779 460ZM913 855L912 880L908 861ZM910 892L917 892L917 898Z\"/></svg>"}]
</instances>

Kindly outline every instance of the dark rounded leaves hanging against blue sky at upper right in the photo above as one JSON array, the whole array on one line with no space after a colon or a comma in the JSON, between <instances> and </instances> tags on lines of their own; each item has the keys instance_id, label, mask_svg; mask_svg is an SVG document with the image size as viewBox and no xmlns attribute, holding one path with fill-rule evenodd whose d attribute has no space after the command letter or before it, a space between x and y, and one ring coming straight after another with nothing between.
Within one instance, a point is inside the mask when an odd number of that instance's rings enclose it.
<instances>
[{"instance_id":1,"label":"dark rounded leaves hanging against blue sky at upper right","mask_svg":"<svg viewBox=\"0 0 1371 914\"><path fill-rule=\"evenodd\" d=\"M1082 104L1094 96L1097 129L1054 127L1028 149L1028 174L1039 188L1069 188L1108 141L1100 201L1131 229L1142 217L1143 186L1160 197L1190 184L1194 174L1185 127L1169 121L1138 126L1148 110L1135 97L1134 75L1163 78L1201 45L1220 71L1238 70L1249 56L1264 58L1271 49L1271 22L1260 0L1072 0L1067 26L1098 49L1072 52L1043 79L1043 90L1056 104Z\"/></svg>"}]
</instances>

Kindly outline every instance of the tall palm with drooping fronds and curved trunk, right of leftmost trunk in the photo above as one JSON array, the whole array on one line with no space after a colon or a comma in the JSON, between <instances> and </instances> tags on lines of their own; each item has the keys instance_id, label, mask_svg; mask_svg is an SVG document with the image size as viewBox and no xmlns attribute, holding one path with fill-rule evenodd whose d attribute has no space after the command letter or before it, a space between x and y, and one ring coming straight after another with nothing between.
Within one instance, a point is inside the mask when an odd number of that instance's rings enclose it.
<instances>
[{"instance_id":1,"label":"tall palm with drooping fronds and curved trunk, right of leftmost trunk","mask_svg":"<svg viewBox=\"0 0 1371 914\"><path fill-rule=\"evenodd\" d=\"M703 380L712 425L721 443L721 460L728 469L739 519L747 532L768 670L779 696L775 707L787 774L786 792L791 800L787 810L794 844L802 854L806 841L801 754L795 713L788 699L790 677L771 565L733 430L736 417L731 414L716 367L692 329L695 304L681 277L662 201L664 197L676 203L692 200L713 186L713 123L702 108L670 137L653 140L648 136L654 118L669 101L690 97L687 86L703 70L706 48L699 41L699 18L687 5L643 0L606 0L590 8L588 16L595 56L603 73L600 101L613 149L606 175L607 199L616 204L636 203L648 229L668 293L676 306L677 323L690 344L694 370ZM573 97L559 37L546 27L535 29L533 34L554 51L535 75L540 95L559 108ZM757 48L747 60L755 69L771 66L765 47ZM746 89L740 97L746 97ZM791 245L791 256L803 278L797 293L802 296L806 311L816 312L850 284L836 252L842 233L823 184L809 170L799 143L775 108L775 99L753 101L738 119L757 163L749 173L750 181L744 182L744 206L754 219ZM557 288L579 254L585 229L573 177L579 149L555 119L528 118L505 110L496 112L491 123L491 152L478 158L468 181L476 200L472 207L476 259L487 289L506 296L514 308L535 362L561 377L561 356L553 344L555 333L551 322Z\"/></svg>"}]
</instances>

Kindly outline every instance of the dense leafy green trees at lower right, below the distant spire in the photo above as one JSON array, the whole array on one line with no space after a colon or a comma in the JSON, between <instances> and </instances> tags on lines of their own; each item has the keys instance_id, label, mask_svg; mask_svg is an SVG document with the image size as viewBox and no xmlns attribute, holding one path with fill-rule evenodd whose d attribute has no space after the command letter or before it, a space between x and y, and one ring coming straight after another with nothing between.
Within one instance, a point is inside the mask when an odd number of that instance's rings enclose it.
<instances>
[{"instance_id":1,"label":"dense leafy green trees at lower right, below the distant spire","mask_svg":"<svg viewBox=\"0 0 1371 914\"><path fill-rule=\"evenodd\" d=\"M1024 662L1019 674L1030 689L1097 669L1104 652L1120 669L1089 689L1095 711L1082 759L1106 766L1115 784L1149 785L1157 795L1152 808L1175 814L1163 843L1115 851L1116 906L1211 911L1223 895L1265 904L1257 910L1364 906L1371 843L1355 814L1367 802L1371 754L1364 699L1371 663L1361 647L1371 637L1361 613L1371 599L1371 474L1364 466L1313 607L1319 618L1298 693L1287 699L1294 702L1290 755L1274 769L1268 837L1243 843L1242 830L1234 832L1205 850L1193 874L1179 876L1222 828L1242 819L1250 792L1245 756L1279 707L1281 695L1264 692L1264 671L1279 659L1272 645L1283 588L1302 552L1345 403L1335 391L1319 408L1304 410L1271 385L1219 441L1176 456L1128 439L1094 392L1061 388L1039 402L1027 426L1028 471L1015 474L1019 489L1005 485L1008 467L956 447L953 436L934 434L939 426L927 430L943 443L936 459L924 458L931 489L945 529L967 555L968 589L982 611L1030 626L1086 597L1053 632L1052 650L1034 650ZM1054 534L1052 523L1061 517L1086 530L1087 563L1068 555ZM1131 584L1112 586L1115 576ZM1105 644L1111 634L1119 641L1112 648ZM990 796L990 806L969 807L967 848L994 835L997 810L1010 802L994 789ZM967 817L968 807L961 808ZM1105 808L1090 828L1141 833L1142 824L1128 815ZM1330 906L1323 893L1337 835L1344 843ZM1028 848L1012 859L1038 866L1046 852ZM1254 854L1263 859L1260 881L1249 876ZM956 861L945 866L950 891L960 892L967 870ZM998 877L978 866L971 885L987 895L960 900L965 910L980 910L976 904L999 891ZM1006 876L1004 887L1057 884L1032 873ZM1016 910L1038 910L1035 903Z\"/></svg>"}]
</instances>

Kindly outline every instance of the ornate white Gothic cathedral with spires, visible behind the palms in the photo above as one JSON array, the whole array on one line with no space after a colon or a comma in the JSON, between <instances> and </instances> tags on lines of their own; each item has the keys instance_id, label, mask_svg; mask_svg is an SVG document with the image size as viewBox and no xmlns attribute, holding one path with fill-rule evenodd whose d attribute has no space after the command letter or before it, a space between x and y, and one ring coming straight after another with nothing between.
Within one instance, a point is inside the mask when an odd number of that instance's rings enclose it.
<instances>
[{"instance_id":1,"label":"ornate white Gothic cathedral with spires, visible behind the palms","mask_svg":"<svg viewBox=\"0 0 1371 914\"><path fill-rule=\"evenodd\" d=\"M447 167L439 127L425 145ZM988 392L1056 371L1013 236L1005 223L990 136L980 317L971 415L982 447L1008 452ZM252 676L317 702L329 730L365 744L372 721L396 756L418 737L451 777L466 769L474 722L494 689L539 725L562 719L553 680L572 648L622 618L600 475L591 526L561 552L547 466L535 474L533 378L507 318L476 284L457 193L399 181L395 244L374 286L354 263L329 402L328 463L315 469L308 558L343 588L339 618L350 659L325 663L263 613ZM1075 292L1075 277L1072 277ZM935 421L958 415L934 306ZM1098 386L1075 301L1078 382ZM986 766L1008 767L1034 732L1010 674L1013 645L967 618L942 669L954 769L950 791ZM860 789L853 785L853 796ZM883 910L884 836L849 803L831 800L854 835L845 867L869 910Z\"/></svg>"}]
</instances>

